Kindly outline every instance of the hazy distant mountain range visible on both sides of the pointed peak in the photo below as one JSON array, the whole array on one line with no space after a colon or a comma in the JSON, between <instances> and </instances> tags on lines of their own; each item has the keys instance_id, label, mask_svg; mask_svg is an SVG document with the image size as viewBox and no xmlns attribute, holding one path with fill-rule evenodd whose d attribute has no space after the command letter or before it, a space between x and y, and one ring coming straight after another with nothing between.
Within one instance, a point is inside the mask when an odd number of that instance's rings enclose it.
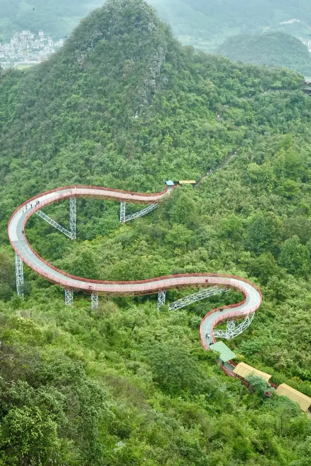
<instances>
[{"instance_id":1,"label":"hazy distant mountain range visible on both sides of the pointed peak","mask_svg":"<svg viewBox=\"0 0 311 466\"><path fill-rule=\"evenodd\" d=\"M55 38L68 35L92 9L104 0L1 0L0 37L8 39L21 29ZM260 34L264 28L295 36L311 35L309 0L151 0L159 16L168 22L183 43L214 51L228 36ZM291 19L301 22L284 23Z\"/></svg>"}]
</instances>

